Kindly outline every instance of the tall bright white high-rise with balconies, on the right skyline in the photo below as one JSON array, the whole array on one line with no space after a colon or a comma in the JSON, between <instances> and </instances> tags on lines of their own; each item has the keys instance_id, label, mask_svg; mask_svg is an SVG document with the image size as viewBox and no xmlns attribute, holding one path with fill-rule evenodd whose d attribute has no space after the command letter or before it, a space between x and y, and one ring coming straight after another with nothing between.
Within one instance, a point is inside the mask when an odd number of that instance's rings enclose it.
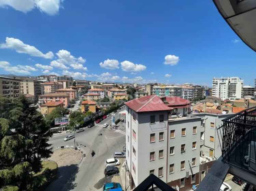
<instances>
[{"instance_id":1,"label":"tall bright white high-rise with balconies, on the right skyline","mask_svg":"<svg viewBox=\"0 0 256 191\"><path fill-rule=\"evenodd\" d=\"M242 97L243 80L239 77L221 77L212 80L212 96L222 100L237 100Z\"/></svg>"}]
</instances>

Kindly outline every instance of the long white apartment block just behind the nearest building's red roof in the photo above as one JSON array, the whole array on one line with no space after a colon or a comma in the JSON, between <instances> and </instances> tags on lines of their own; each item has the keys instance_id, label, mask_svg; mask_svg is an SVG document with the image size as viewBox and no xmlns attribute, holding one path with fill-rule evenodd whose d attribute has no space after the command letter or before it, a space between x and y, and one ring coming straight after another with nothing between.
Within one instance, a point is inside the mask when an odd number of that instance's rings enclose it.
<instances>
[{"instance_id":1,"label":"long white apartment block just behind the nearest building's red roof","mask_svg":"<svg viewBox=\"0 0 256 191\"><path fill-rule=\"evenodd\" d=\"M168 95L170 97L182 96L182 88L179 86L166 86L166 85L160 85L160 86L153 86L153 94L156 94L157 96L163 96Z\"/></svg>"}]
</instances>

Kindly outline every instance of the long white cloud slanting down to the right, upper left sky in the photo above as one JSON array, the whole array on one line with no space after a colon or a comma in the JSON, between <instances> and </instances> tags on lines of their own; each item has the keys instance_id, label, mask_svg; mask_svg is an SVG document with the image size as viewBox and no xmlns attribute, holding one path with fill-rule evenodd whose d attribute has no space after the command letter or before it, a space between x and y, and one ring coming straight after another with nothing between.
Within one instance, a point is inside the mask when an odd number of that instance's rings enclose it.
<instances>
[{"instance_id":1,"label":"long white cloud slanting down to the right, upper left sky","mask_svg":"<svg viewBox=\"0 0 256 191\"><path fill-rule=\"evenodd\" d=\"M20 3L20 4L22 4L22 3ZM0 44L0 48L13 49L18 53L29 54L30 56L43 57L43 58L47 58L47 59L51 59L54 56L53 52L51 52L51 51L47 52L46 54L43 54L41 51L39 51L34 46L24 44L23 41L21 41L17 38L6 37L5 43Z\"/></svg>"}]
</instances>

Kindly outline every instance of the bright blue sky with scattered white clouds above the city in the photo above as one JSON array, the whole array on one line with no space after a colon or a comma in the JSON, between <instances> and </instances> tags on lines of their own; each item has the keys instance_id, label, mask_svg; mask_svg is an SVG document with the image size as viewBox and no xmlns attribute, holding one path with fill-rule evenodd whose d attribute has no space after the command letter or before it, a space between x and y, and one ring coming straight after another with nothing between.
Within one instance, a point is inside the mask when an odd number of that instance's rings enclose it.
<instances>
[{"instance_id":1,"label":"bright blue sky with scattered white clouds above the city","mask_svg":"<svg viewBox=\"0 0 256 191\"><path fill-rule=\"evenodd\" d=\"M0 23L2 74L208 86L256 77L255 52L212 1L1 0Z\"/></svg>"}]
</instances>

